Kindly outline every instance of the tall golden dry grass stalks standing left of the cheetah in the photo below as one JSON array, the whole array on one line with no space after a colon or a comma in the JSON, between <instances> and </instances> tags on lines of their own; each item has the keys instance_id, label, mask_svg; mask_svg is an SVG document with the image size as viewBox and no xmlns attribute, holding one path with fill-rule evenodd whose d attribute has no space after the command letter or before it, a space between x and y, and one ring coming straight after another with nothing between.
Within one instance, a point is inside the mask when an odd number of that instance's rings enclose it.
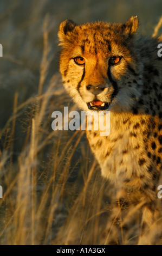
<instances>
[{"instance_id":1,"label":"tall golden dry grass stalks standing left of the cheetah","mask_svg":"<svg viewBox=\"0 0 162 256\"><path fill-rule=\"evenodd\" d=\"M68 131L51 130L53 107L60 108L57 94L60 95L58 87L61 84L60 76L56 74L51 77L46 92L42 93L52 60L49 54L47 27L48 18L46 17L38 94L19 105L18 92L16 92L13 113L1 130L3 143L0 171L4 188L3 199L0 201L3 216L1 244L55 244L57 243L55 237L68 217L70 224L68 223L67 235L64 236L64 240L63 237L61 239L63 244L67 244L69 237L72 239L73 220L78 214L81 214L79 233L82 234L78 235L79 241L73 240L73 242L81 243L82 239L86 240L87 237L87 234L85 238L83 235L87 224L94 223L93 216L104 212L100 209L101 203L97 204L96 209L94 207L94 199L101 198L104 182L101 187L98 184L98 190L96 190L97 180L101 178L98 177L99 172L96 175L96 162L92 161L89 164L89 148L85 139L82 139L85 137L84 132L76 131L69 137ZM66 98L63 96L63 102L65 101ZM67 105L69 105L68 101ZM25 132L20 154L15 161L13 153L18 119L21 119ZM77 159L79 144L83 155ZM72 160L75 164L70 167ZM74 170L79 165L79 177L76 177ZM92 191L89 191L90 187ZM85 208L87 208L86 211ZM95 223L97 229L94 232L94 241L98 236L98 222L99 220ZM56 240L59 241L60 238Z\"/></svg>"}]
</instances>

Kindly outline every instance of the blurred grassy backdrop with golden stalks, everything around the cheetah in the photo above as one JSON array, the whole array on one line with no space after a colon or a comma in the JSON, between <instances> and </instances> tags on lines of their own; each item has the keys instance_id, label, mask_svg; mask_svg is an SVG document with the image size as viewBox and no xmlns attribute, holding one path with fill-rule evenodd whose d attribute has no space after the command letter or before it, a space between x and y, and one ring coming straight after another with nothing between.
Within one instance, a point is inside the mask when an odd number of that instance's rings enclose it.
<instances>
[{"instance_id":1,"label":"blurred grassy backdrop with golden stalks, everything around the cheetah","mask_svg":"<svg viewBox=\"0 0 162 256\"><path fill-rule=\"evenodd\" d=\"M1 0L1 244L104 243L113 189L84 132L51 130L53 111L76 108L61 83L57 31L66 19L138 15L152 35L161 14L160 0Z\"/></svg>"}]
</instances>

